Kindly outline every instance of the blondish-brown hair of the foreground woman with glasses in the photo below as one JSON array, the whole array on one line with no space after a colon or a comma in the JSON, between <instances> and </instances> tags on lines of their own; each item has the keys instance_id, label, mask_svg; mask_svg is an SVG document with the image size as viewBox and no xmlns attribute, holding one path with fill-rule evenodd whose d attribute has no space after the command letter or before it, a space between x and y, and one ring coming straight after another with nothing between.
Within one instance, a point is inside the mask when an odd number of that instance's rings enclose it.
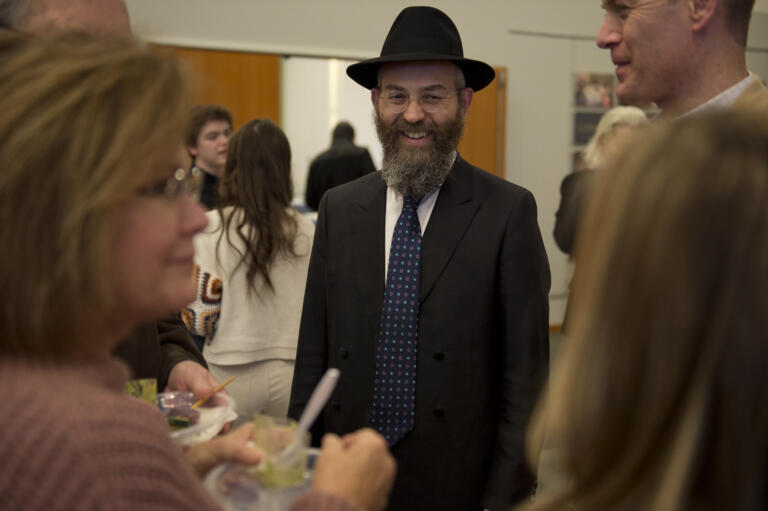
<instances>
[{"instance_id":1,"label":"blondish-brown hair of the foreground woman with glasses","mask_svg":"<svg viewBox=\"0 0 768 511\"><path fill-rule=\"evenodd\" d=\"M114 307L110 226L170 172L189 74L130 41L73 36L5 32L0 60L0 352L66 355Z\"/></svg>"}]
</instances>

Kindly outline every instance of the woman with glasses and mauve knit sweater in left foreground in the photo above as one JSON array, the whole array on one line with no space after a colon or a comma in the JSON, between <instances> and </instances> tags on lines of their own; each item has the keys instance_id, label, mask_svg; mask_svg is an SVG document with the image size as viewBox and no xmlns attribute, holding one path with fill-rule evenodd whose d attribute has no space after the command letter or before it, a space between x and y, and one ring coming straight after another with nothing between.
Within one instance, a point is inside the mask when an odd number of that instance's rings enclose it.
<instances>
[{"instance_id":1,"label":"woman with glasses and mauve knit sweater in left foreground","mask_svg":"<svg viewBox=\"0 0 768 511\"><path fill-rule=\"evenodd\" d=\"M189 82L127 39L0 31L0 283L14 290L0 309L4 508L215 510L198 477L260 460L250 424L182 453L157 408L122 394L110 356L136 322L195 296L207 221L177 160ZM316 490L293 509L382 509L384 440L323 447Z\"/></svg>"}]
</instances>

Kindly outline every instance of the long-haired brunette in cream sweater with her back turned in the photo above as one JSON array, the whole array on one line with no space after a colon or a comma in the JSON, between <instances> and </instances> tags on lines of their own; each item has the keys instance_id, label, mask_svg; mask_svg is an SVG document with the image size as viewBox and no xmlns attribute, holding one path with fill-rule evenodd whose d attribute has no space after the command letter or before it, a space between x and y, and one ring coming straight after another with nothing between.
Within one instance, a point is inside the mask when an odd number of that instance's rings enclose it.
<instances>
[{"instance_id":1,"label":"long-haired brunette in cream sweater with her back turned","mask_svg":"<svg viewBox=\"0 0 768 511\"><path fill-rule=\"evenodd\" d=\"M199 292L185 316L207 337L214 376L238 376L228 390L240 420L285 417L314 224L291 207L291 148L275 123L232 136L220 191L195 241Z\"/></svg>"}]
</instances>

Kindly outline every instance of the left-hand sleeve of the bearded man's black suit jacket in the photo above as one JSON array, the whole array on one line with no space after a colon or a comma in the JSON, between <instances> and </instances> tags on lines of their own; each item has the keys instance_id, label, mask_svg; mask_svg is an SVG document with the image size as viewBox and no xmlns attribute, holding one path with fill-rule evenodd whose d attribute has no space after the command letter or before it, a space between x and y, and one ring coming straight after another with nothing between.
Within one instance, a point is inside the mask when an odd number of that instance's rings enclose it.
<instances>
[{"instance_id":1,"label":"left-hand sleeve of the bearded man's black suit jacket","mask_svg":"<svg viewBox=\"0 0 768 511\"><path fill-rule=\"evenodd\" d=\"M296 420L304 411L312 390L328 366L328 320L325 294L327 199L328 194L325 194L320 202L299 326L296 366L288 407L288 416ZM323 421L319 419L312 426L312 444L320 445L323 434L325 434Z\"/></svg>"}]
</instances>

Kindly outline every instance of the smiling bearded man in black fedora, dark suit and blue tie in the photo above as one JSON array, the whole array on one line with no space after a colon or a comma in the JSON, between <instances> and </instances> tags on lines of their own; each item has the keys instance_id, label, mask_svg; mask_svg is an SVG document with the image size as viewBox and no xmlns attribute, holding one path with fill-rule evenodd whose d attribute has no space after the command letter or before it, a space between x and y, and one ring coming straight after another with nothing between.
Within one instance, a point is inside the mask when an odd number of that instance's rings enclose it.
<instances>
[{"instance_id":1,"label":"smiling bearded man in black fedora, dark suit and blue tie","mask_svg":"<svg viewBox=\"0 0 768 511\"><path fill-rule=\"evenodd\" d=\"M533 196L456 152L494 78L431 7L402 11L371 90L383 168L320 204L289 414L341 378L314 441L362 426L398 463L389 509L508 509L529 496L525 429L546 379L549 265Z\"/></svg>"}]
</instances>

